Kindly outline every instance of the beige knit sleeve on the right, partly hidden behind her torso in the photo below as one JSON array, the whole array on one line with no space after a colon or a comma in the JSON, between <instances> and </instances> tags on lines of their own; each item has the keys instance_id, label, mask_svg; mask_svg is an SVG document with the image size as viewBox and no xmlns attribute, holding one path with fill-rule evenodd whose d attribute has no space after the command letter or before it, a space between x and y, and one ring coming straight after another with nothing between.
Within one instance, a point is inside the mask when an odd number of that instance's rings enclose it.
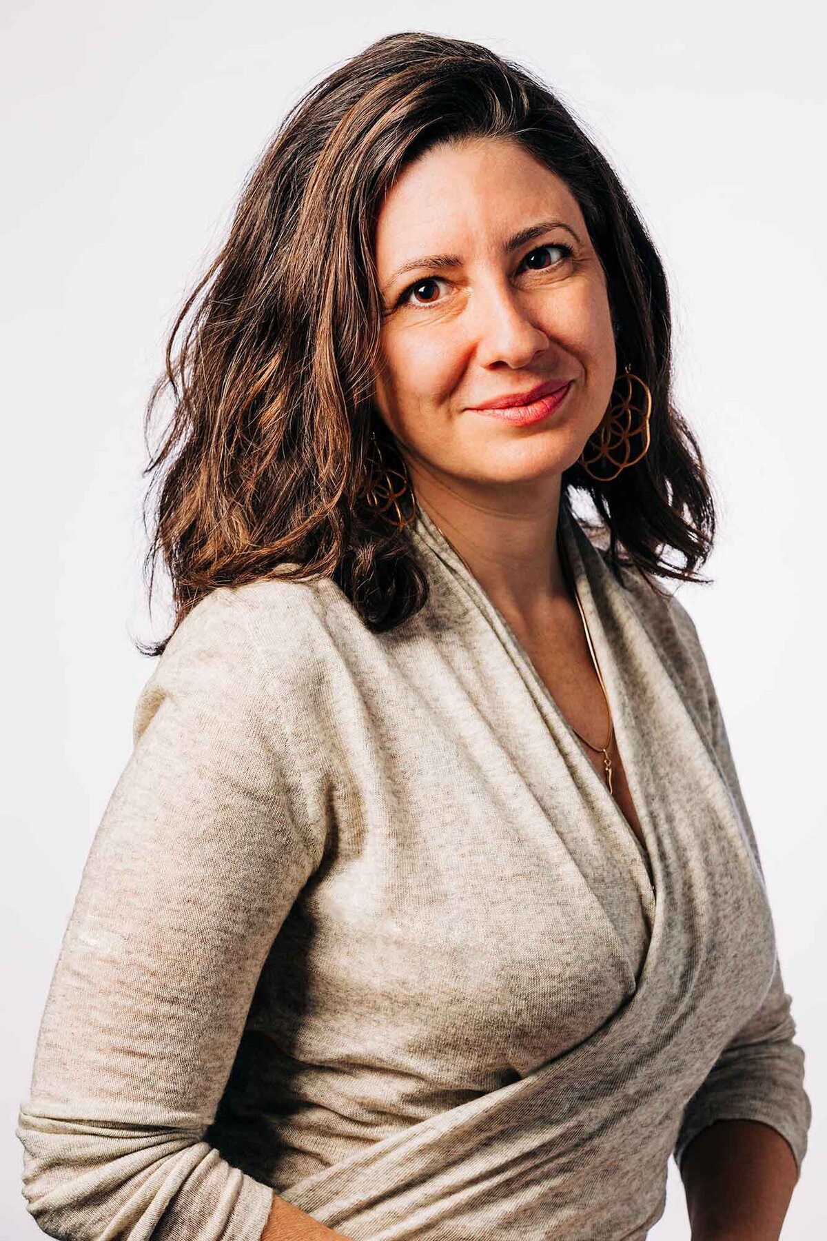
<instances>
[{"instance_id":1,"label":"beige knit sleeve on the right, partly hidden behind her torso","mask_svg":"<svg viewBox=\"0 0 827 1241\"><path fill-rule=\"evenodd\" d=\"M677 608L677 601L672 606ZM744 803L709 668L694 624L682 607L679 613L678 623L686 625L693 635L697 665L707 688L713 750L745 825L759 872L764 877L755 833ZM812 1109L803 1088L805 1052L794 1041L795 1034L791 997L785 992L776 956L775 973L761 1004L722 1050L684 1108L674 1147L678 1168L686 1148L701 1129L719 1119L748 1119L761 1121L786 1138L798 1173L801 1172Z\"/></svg>"}]
</instances>

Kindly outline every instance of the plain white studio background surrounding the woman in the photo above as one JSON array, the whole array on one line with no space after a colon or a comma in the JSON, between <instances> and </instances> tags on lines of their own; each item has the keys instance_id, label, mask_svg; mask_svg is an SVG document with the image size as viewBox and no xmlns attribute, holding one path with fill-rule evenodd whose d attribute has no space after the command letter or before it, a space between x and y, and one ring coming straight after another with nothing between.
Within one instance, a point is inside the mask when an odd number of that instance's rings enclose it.
<instances>
[{"instance_id":1,"label":"plain white studio background surrounding the woman","mask_svg":"<svg viewBox=\"0 0 827 1241\"><path fill-rule=\"evenodd\" d=\"M818 6L820 7L820 6ZM816 5L135 0L6 5L0 1235L41 1236L14 1136L97 822L154 664L143 410L184 294L285 108L392 31L538 71L613 161L671 280L678 405L719 500L683 586L756 830L813 1104L784 1234L825 1235L823 31ZM161 602L165 599L161 592ZM822 983L818 983L818 979ZM689 1235L670 1162L650 1236Z\"/></svg>"}]
</instances>

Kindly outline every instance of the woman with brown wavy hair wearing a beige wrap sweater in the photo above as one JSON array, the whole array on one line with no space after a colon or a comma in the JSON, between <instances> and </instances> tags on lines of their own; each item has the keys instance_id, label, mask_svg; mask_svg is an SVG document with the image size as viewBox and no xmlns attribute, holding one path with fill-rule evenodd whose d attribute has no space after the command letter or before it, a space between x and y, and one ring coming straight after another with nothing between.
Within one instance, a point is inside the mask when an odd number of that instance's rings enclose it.
<instances>
[{"instance_id":1,"label":"woman with brown wavy hair wearing a beige wrap sweater","mask_svg":"<svg viewBox=\"0 0 827 1241\"><path fill-rule=\"evenodd\" d=\"M293 109L174 339L201 290L151 462L176 627L43 1014L29 1210L631 1241L674 1154L693 1237L777 1237L803 1052L655 582L714 509L615 174L520 67L394 35Z\"/></svg>"}]
</instances>

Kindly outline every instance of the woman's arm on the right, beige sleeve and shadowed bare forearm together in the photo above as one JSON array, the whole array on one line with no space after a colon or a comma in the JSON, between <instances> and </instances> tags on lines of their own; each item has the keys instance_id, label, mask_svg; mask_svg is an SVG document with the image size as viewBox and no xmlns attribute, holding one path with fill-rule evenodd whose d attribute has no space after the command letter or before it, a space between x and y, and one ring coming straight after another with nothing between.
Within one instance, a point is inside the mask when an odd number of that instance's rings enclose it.
<instances>
[{"instance_id":1,"label":"woman's arm on the right, beige sleeve and shadowed bare forearm together","mask_svg":"<svg viewBox=\"0 0 827 1241\"><path fill-rule=\"evenodd\" d=\"M764 877L712 676L694 624L683 608L679 613L707 690L712 748ZM791 998L776 958L764 1000L684 1108L674 1158L687 1190L692 1235L699 1241L775 1241L780 1235L812 1117L803 1088L805 1054L795 1034Z\"/></svg>"}]
</instances>

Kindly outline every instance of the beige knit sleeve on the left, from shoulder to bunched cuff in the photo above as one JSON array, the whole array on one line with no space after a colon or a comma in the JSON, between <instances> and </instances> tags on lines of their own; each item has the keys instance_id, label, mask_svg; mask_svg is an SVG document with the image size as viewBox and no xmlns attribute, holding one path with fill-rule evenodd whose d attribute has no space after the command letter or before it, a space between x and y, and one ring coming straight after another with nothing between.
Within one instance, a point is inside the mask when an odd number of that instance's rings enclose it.
<instances>
[{"instance_id":1,"label":"beige knit sleeve on the left, from shoulder to bunched cuff","mask_svg":"<svg viewBox=\"0 0 827 1241\"><path fill-rule=\"evenodd\" d=\"M205 1133L273 939L320 856L273 681L243 598L222 588L141 691L19 1113L27 1209L50 1236L260 1237L272 1188Z\"/></svg>"}]
</instances>

